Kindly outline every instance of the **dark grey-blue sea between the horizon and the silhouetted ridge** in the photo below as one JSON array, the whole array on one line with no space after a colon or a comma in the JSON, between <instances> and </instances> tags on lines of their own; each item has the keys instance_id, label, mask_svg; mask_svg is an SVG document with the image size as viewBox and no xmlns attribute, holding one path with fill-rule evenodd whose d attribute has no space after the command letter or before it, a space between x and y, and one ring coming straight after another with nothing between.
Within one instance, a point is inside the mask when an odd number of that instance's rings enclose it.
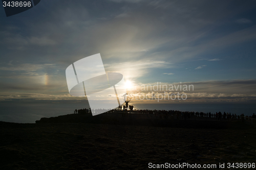
<instances>
[{"instance_id":1,"label":"dark grey-blue sea between the horizon and the silhouetted ridge","mask_svg":"<svg viewBox=\"0 0 256 170\"><path fill-rule=\"evenodd\" d=\"M256 113L254 103L182 103L182 104L136 104L138 109L179 110L195 112L252 115ZM86 101L0 101L0 121L13 123L35 123L41 117L54 117L74 113L75 109L88 108Z\"/></svg>"}]
</instances>

